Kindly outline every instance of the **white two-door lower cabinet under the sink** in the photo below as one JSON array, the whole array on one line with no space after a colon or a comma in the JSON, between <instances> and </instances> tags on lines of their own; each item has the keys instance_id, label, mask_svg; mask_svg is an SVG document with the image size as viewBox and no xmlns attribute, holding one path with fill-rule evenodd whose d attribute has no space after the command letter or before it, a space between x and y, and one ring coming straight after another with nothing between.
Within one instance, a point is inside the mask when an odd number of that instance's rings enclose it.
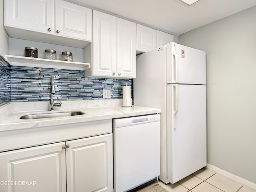
<instances>
[{"instance_id":1,"label":"white two-door lower cabinet under the sink","mask_svg":"<svg viewBox=\"0 0 256 192\"><path fill-rule=\"evenodd\" d=\"M112 134L0 153L0 192L112 192Z\"/></svg>"}]
</instances>

